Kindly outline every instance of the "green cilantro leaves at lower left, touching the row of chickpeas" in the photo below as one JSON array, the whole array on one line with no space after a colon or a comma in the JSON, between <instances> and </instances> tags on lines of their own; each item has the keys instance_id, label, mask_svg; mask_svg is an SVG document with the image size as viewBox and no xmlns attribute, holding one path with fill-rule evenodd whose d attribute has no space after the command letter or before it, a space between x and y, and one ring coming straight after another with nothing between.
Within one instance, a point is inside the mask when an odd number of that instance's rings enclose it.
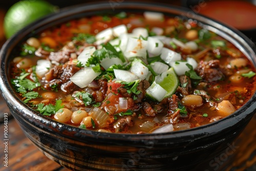
<instances>
[{"instance_id":1,"label":"green cilantro leaves at lower left, touching the row of chickpeas","mask_svg":"<svg viewBox=\"0 0 256 171\"><path fill-rule=\"evenodd\" d=\"M37 104L36 111L40 112L40 114L42 115L51 116L53 114L56 114L56 112L58 112L60 109L64 107L64 105L61 105L61 103L62 103L61 100L56 100L55 105L53 104L45 105L44 103L39 103Z\"/></svg>"}]
</instances>

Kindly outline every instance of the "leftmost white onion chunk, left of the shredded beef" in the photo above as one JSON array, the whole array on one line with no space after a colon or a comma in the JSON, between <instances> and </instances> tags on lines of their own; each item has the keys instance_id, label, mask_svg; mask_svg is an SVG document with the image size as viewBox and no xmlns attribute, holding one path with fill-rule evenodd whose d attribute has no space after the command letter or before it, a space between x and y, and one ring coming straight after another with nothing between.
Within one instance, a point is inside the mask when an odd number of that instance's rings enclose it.
<instances>
[{"instance_id":1,"label":"leftmost white onion chunk, left of the shredded beef","mask_svg":"<svg viewBox=\"0 0 256 171\"><path fill-rule=\"evenodd\" d=\"M51 67L52 67L51 61L46 59L39 59L37 60L37 63L36 63L35 73L39 78L42 78L50 70Z\"/></svg>"}]
</instances>

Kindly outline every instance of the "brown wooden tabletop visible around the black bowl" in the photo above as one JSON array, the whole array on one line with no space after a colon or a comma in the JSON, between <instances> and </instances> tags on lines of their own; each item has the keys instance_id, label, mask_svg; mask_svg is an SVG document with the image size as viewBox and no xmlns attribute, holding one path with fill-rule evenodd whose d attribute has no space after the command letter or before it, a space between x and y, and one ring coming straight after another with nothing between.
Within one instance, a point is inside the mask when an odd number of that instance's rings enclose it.
<instances>
[{"instance_id":1,"label":"brown wooden tabletop visible around the black bowl","mask_svg":"<svg viewBox=\"0 0 256 171\"><path fill-rule=\"evenodd\" d=\"M0 7L0 47L5 41L3 37L3 17L5 11ZM0 115L9 113L9 109L3 98L0 96ZM3 117L0 117L3 118ZM9 115L8 119L8 167L4 166L4 124L0 123L0 171L3 170L58 170L67 171L69 169L60 166L58 163L48 159L42 154L36 146L24 135L18 124ZM1 120L1 119L0 119ZM242 134L234 141L234 145L238 146L236 151L225 161L222 161L218 170L256 170L256 115L247 125ZM225 168L223 168L225 165ZM226 167L228 166L228 167ZM216 170L210 167L208 170Z\"/></svg>"}]
</instances>

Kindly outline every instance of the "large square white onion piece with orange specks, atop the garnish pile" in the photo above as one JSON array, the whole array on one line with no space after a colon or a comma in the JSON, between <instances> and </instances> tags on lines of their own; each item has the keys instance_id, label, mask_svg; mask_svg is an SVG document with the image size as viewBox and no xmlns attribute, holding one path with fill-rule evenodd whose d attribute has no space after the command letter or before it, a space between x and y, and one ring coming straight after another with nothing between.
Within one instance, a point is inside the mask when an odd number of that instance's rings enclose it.
<instances>
[{"instance_id":1,"label":"large square white onion piece with orange specks, atop the garnish pile","mask_svg":"<svg viewBox=\"0 0 256 171\"><path fill-rule=\"evenodd\" d=\"M129 59L132 57L140 56L146 58L147 41L138 38L129 37L127 41L124 56Z\"/></svg>"}]
</instances>

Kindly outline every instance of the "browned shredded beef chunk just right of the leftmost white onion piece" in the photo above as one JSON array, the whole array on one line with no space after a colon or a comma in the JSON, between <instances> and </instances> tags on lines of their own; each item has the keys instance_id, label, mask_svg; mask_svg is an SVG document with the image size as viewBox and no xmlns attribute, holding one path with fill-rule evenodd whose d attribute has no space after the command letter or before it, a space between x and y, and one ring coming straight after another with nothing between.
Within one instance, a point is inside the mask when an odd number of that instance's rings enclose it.
<instances>
[{"instance_id":1,"label":"browned shredded beef chunk just right of the leftmost white onion piece","mask_svg":"<svg viewBox=\"0 0 256 171\"><path fill-rule=\"evenodd\" d=\"M70 77L72 77L80 68L75 65L62 65L53 67L48 73L45 75L46 81L48 81L44 88L51 90L52 85L57 84L58 88L61 88L63 92L70 93L78 87L72 81L70 81Z\"/></svg>"}]
</instances>

